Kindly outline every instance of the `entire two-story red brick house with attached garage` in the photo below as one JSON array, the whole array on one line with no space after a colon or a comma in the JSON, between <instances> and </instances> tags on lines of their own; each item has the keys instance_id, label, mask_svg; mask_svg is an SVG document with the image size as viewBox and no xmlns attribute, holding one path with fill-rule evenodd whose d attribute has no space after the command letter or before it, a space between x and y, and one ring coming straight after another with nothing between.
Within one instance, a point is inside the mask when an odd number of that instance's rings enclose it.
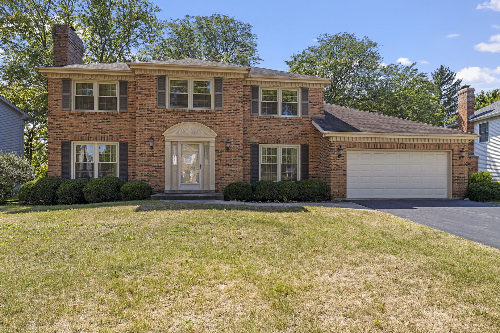
<instances>
[{"instance_id":1,"label":"entire two-story red brick house with attached garage","mask_svg":"<svg viewBox=\"0 0 500 333\"><path fill-rule=\"evenodd\" d=\"M332 198L461 198L477 136L323 103L329 79L196 58L81 64L55 25L48 174L156 192L319 179Z\"/></svg>"}]
</instances>

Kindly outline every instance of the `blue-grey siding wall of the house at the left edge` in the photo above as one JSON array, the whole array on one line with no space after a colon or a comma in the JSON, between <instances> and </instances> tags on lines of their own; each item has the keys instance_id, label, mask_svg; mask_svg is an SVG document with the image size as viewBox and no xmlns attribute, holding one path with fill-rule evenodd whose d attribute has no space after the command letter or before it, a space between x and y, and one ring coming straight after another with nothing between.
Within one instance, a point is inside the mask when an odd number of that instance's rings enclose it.
<instances>
[{"instance_id":1,"label":"blue-grey siding wall of the house at the left edge","mask_svg":"<svg viewBox=\"0 0 500 333\"><path fill-rule=\"evenodd\" d=\"M22 155L22 115L0 100L0 150Z\"/></svg>"}]
</instances>

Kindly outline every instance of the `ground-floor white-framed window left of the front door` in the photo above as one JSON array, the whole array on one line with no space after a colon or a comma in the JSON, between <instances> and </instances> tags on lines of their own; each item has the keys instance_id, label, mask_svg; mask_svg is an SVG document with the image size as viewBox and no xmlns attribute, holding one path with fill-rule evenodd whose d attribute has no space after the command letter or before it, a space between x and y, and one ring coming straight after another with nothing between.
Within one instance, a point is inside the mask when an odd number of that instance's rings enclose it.
<instances>
[{"instance_id":1,"label":"ground-floor white-framed window left of the front door","mask_svg":"<svg viewBox=\"0 0 500 333\"><path fill-rule=\"evenodd\" d=\"M117 142L72 142L71 159L71 178L118 176Z\"/></svg>"}]
</instances>

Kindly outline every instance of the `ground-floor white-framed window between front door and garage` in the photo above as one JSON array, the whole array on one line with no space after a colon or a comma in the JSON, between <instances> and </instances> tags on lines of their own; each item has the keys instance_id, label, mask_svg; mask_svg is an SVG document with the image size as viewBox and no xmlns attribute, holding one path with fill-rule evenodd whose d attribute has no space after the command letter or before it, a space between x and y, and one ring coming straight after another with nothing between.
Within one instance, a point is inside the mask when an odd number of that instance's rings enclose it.
<instances>
[{"instance_id":1,"label":"ground-floor white-framed window between front door and garage","mask_svg":"<svg viewBox=\"0 0 500 333\"><path fill-rule=\"evenodd\" d=\"M259 180L299 180L299 145L260 145Z\"/></svg>"}]
</instances>

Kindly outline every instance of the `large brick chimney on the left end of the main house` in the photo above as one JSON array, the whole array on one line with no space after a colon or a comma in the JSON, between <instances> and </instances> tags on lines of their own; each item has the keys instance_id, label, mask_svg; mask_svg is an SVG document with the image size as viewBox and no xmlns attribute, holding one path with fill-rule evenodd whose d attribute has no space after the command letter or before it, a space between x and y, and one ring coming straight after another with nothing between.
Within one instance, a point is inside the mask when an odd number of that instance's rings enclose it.
<instances>
[{"instance_id":1,"label":"large brick chimney on the left end of the main house","mask_svg":"<svg viewBox=\"0 0 500 333\"><path fill-rule=\"evenodd\" d=\"M55 24L52 26L54 43L54 66L83 63L83 42L72 26Z\"/></svg>"}]
</instances>

